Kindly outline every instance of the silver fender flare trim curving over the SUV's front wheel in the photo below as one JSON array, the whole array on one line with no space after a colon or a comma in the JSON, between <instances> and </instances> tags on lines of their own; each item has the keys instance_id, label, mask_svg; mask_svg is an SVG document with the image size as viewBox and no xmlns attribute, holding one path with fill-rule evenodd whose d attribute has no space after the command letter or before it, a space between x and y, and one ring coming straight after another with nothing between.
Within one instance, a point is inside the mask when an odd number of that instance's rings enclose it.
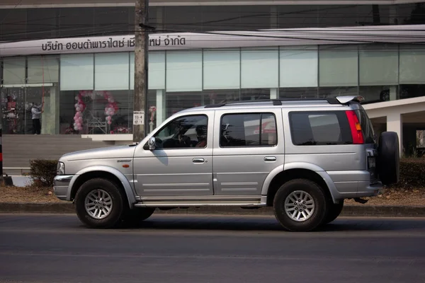
<instances>
[{"instance_id":1,"label":"silver fender flare trim curving over the SUV's front wheel","mask_svg":"<svg viewBox=\"0 0 425 283\"><path fill-rule=\"evenodd\" d=\"M77 179L84 173L89 173L94 171L103 171L103 172L107 172L107 173L111 173L115 175L115 177L117 177L120 180L121 184L123 184L125 195L127 195L127 200L128 200L128 204L130 205L130 208L133 207L133 204L136 203L136 198L135 198L135 191L132 189L130 182L128 181L128 179L125 177L123 173L109 166L91 166L91 167L81 169L81 171L79 171L77 174L74 175L74 177L72 177L71 183L69 183L67 200L71 200L71 191L72 191L71 188L74 187L74 184L77 181Z\"/></svg>"}]
</instances>

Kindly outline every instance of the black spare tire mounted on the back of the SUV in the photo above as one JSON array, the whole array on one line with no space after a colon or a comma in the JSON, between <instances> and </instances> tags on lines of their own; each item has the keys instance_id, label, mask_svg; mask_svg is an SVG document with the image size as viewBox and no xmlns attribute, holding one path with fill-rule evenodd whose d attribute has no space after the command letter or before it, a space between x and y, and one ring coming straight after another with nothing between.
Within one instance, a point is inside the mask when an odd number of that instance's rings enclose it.
<instances>
[{"instance_id":1,"label":"black spare tire mounted on the back of the SUV","mask_svg":"<svg viewBox=\"0 0 425 283\"><path fill-rule=\"evenodd\" d=\"M379 137L377 171L384 185L399 181L399 138L396 132L382 132Z\"/></svg>"}]
</instances>

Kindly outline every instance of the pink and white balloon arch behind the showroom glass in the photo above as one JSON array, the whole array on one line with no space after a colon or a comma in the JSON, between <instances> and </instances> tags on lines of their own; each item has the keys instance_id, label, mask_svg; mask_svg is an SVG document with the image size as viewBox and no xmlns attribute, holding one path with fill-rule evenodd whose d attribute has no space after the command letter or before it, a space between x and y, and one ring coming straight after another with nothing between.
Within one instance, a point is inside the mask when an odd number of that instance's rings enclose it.
<instances>
[{"instance_id":1,"label":"pink and white balloon arch behind the showroom glass","mask_svg":"<svg viewBox=\"0 0 425 283\"><path fill-rule=\"evenodd\" d=\"M84 98L89 97L91 100L95 100L96 96L103 96L108 101L105 108L106 122L108 125L112 124L112 117L118 112L118 104L113 99L111 93L108 91L80 91L78 96L75 97L77 103L74 105L74 129L76 131L83 129L83 112L86 110Z\"/></svg>"}]
</instances>

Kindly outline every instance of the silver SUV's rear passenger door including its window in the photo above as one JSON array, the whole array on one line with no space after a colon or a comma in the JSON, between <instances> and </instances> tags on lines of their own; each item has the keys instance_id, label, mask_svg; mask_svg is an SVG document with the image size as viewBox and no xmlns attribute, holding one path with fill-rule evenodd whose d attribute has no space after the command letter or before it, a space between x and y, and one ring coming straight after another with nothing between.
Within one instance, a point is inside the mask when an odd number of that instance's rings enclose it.
<instances>
[{"instance_id":1,"label":"silver SUV's rear passenger door including its window","mask_svg":"<svg viewBox=\"0 0 425 283\"><path fill-rule=\"evenodd\" d=\"M212 157L215 195L261 195L267 175L284 163L280 108L217 110Z\"/></svg>"}]
</instances>

